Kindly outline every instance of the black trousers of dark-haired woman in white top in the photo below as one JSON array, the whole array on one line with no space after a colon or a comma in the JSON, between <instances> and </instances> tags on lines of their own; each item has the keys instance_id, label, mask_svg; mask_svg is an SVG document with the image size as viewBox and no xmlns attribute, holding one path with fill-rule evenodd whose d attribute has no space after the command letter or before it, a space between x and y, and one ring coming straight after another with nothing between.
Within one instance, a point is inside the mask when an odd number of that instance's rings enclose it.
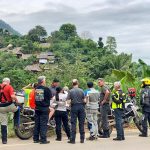
<instances>
[{"instance_id":1,"label":"black trousers of dark-haired woman in white top","mask_svg":"<svg viewBox=\"0 0 150 150\"><path fill-rule=\"evenodd\" d=\"M68 125L68 114L67 111L55 111L55 121L56 121L56 135L58 139L61 139L61 127L62 123L64 126L64 130L67 134L67 137L70 138L70 128Z\"/></svg>"}]
</instances>

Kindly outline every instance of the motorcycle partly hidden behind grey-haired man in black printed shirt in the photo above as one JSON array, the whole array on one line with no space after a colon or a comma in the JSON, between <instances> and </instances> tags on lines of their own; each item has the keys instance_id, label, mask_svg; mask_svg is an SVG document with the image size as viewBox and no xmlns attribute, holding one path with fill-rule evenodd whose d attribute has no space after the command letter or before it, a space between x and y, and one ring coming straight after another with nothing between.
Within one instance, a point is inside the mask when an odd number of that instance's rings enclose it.
<instances>
[{"instance_id":1,"label":"motorcycle partly hidden behind grey-haired man in black printed shirt","mask_svg":"<svg viewBox=\"0 0 150 150\"><path fill-rule=\"evenodd\" d=\"M23 100L23 96L21 94L17 94L17 99L21 103L21 105L19 106L20 107L20 117L19 117L19 124L14 126L14 130L15 130L15 134L18 138L20 138L22 140L27 140L33 136L33 130L34 130L34 126L35 126L35 120L34 120L35 110L31 109L30 107L24 107L24 100ZM52 107L54 109L56 109L57 106L58 105L56 103L52 104ZM67 108L67 111L69 114L70 113L69 107ZM68 116L69 116L68 123L69 123L69 126L71 126L70 125L71 124L70 123L70 115L68 115ZM56 123L55 123L54 117L52 117L49 120L49 123L47 125L48 125L48 133L55 130Z\"/></svg>"}]
</instances>

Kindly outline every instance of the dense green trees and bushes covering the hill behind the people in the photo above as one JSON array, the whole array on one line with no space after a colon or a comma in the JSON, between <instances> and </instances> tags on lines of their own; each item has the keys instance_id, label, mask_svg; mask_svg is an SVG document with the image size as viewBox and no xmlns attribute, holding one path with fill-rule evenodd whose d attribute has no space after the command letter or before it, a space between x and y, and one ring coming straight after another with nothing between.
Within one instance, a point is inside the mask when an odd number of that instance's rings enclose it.
<instances>
[{"instance_id":1,"label":"dense green trees and bushes covering the hill behind the people","mask_svg":"<svg viewBox=\"0 0 150 150\"><path fill-rule=\"evenodd\" d=\"M50 46L41 47L40 44L45 42L50 43ZM76 26L72 24L63 24L58 31L53 31L48 37L46 30L39 25L22 37L1 34L1 47L8 44L22 47L23 53L51 51L56 56L55 64L48 64L50 70L32 73L24 68L34 63L33 58L24 61L10 53L0 52L0 79L10 77L16 89L35 82L37 76L42 74L47 76L48 85L53 78L59 78L62 85L70 86L71 79L78 78L81 86L86 88L87 81L96 81L97 78L103 77L108 82L121 80L125 90L131 86L139 89L140 79L150 75L150 67L142 60L135 63L132 62L132 54L117 53L115 37L109 36L106 44L103 43L102 37L98 42L81 38Z\"/></svg>"}]
</instances>

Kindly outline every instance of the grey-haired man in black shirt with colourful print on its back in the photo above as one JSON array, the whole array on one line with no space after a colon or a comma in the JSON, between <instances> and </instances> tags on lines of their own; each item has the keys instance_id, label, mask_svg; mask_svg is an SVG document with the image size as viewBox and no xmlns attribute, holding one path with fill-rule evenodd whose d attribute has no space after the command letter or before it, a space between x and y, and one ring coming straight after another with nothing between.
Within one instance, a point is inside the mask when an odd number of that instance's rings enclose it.
<instances>
[{"instance_id":1,"label":"grey-haired man in black shirt with colourful print on its back","mask_svg":"<svg viewBox=\"0 0 150 150\"><path fill-rule=\"evenodd\" d=\"M33 133L34 143L47 144L47 123L49 116L50 99L52 97L51 91L45 86L46 77L40 76L38 78L38 86L35 89L35 127ZM39 139L40 136L40 139Z\"/></svg>"}]
</instances>

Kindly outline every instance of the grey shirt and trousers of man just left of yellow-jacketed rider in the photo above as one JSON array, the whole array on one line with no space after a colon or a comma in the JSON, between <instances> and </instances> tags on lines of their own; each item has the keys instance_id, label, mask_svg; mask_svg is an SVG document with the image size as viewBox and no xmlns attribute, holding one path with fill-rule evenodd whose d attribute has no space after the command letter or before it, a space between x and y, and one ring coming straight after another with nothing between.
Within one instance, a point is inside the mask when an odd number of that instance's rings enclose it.
<instances>
[{"instance_id":1,"label":"grey shirt and trousers of man just left of yellow-jacketed rider","mask_svg":"<svg viewBox=\"0 0 150 150\"><path fill-rule=\"evenodd\" d=\"M104 85L101 87L100 102L104 100L106 90L110 91L108 86ZM110 111L109 101L110 101L110 96L108 96L106 102L102 106L100 106L102 129L103 129L103 136L100 136L100 137L103 137L103 138L108 138L110 136L109 124L108 124L108 113Z\"/></svg>"}]
</instances>

